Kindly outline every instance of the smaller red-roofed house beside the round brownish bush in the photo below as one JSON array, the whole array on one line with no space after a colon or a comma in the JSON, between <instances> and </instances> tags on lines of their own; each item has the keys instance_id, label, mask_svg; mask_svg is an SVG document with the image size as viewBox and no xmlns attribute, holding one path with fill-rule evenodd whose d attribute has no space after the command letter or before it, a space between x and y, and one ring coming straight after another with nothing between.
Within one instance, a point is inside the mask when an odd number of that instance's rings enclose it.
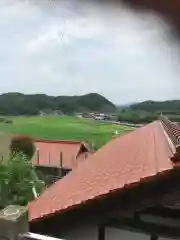
<instances>
[{"instance_id":1,"label":"smaller red-roofed house beside the round brownish bush","mask_svg":"<svg viewBox=\"0 0 180 240\"><path fill-rule=\"evenodd\" d=\"M68 140L34 140L36 153L33 165L46 185L64 177L87 159L91 150L87 143Z\"/></svg>"}]
</instances>

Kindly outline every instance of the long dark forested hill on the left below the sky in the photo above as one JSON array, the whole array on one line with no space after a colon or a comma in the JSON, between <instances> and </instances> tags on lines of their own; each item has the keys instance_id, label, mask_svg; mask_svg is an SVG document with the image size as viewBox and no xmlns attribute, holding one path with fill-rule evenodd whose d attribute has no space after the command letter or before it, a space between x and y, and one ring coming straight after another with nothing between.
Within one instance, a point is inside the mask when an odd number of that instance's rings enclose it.
<instances>
[{"instance_id":1,"label":"long dark forested hill on the left below the sky","mask_svg":"<svg viewBox=\"0 0 180 240\"><path fill-rule=\"evenodd\" d=\"M0 115L34 115L39 111L60 110L63 113L82 111L113 112L116 107L105 97L90 93L83 96L48 96L6 93L0 95Z\"/></svg>"}]
</instances>

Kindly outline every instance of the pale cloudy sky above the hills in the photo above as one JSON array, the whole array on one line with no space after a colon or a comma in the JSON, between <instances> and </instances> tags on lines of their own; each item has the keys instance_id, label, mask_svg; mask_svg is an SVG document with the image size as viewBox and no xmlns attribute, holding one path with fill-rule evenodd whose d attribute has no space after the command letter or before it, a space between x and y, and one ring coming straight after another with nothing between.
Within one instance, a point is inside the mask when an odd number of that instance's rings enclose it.
<instances>
[{"instance_id":1,"label":"pale cloudy sky above the hills","mask_svg":"<svg viewBox=\"0 0 180 240\"><path fill-rule=\"evenodd\" d=\"M0 92L177 99L180 53L169 30L122 5L0 0Z\"/></svg>"}]
</instances>

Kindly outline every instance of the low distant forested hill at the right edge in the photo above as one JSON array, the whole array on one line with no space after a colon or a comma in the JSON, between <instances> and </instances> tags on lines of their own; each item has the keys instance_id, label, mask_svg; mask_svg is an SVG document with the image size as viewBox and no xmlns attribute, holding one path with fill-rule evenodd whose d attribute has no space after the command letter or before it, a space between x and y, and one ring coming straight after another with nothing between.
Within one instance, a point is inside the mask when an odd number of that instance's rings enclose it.
<instances>
[{"instance_id":1,"label":"low distant forested hill at the right edge","mask_svg":"<svg viewBox=\"0 0 180 240\"><path fill-rule=\"evenodd\" d=\"M180 112L180 100L169 100L164 102L145 101L130 106L132 110L143 110L148 112Z\"/></svg>"}]
</instances>

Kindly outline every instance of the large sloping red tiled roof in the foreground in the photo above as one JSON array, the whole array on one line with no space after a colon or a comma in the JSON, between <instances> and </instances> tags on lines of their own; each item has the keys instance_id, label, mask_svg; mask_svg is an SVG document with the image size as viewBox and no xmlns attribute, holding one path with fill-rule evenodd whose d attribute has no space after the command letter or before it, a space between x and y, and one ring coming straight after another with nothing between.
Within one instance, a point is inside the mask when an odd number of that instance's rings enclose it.
<instances>
[{"instance_id":1,"label":"large sloping red tiled roof in the foreground","mask_svg":"<svg viewBox=\"0 0 180 240\"><path fill-rule=\"evenodd\" d=\"M160 121L112 139L28 205L34 221L173 169L168 135Z\"/></svg>"}]
</instances>

